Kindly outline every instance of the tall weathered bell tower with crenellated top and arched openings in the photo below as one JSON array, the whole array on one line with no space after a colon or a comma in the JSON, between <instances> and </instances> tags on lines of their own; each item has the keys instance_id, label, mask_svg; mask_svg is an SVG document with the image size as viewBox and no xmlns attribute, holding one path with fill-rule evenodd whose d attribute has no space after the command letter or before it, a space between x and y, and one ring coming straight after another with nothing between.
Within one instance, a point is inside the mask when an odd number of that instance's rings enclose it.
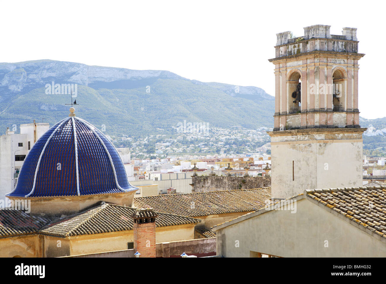
<instances>
[{"instance_id":1,"label":"tall weathered bell tower with crenellated top and arched openings","mask_svg":"<svg viewBox=\"0 0 386 284\"><path fill-rule=\"evenodd\" d=\"M362 186L355 28L304 28L276 34L275 114L271 136L272 197L305 189Z\"/></svg>"}]
</instances>

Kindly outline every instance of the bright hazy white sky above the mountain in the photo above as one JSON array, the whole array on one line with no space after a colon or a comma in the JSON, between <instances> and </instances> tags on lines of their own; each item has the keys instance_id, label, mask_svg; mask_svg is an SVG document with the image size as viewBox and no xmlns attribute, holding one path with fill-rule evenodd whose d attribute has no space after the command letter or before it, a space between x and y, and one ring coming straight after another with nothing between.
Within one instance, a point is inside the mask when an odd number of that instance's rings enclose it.
<instances>
[{"instance_id":1,"label":"bright hazy white sky above the mountain","mask_svg":"<svg viewBox=\"0 0 386 284\"><path fill-rule=\"evenodd\" d=\"M51 59L261 87L274 95L276 33L356 27L359 111L386 116L381 1L2 1L0 62Z\"/></svg>"}]
</instances>

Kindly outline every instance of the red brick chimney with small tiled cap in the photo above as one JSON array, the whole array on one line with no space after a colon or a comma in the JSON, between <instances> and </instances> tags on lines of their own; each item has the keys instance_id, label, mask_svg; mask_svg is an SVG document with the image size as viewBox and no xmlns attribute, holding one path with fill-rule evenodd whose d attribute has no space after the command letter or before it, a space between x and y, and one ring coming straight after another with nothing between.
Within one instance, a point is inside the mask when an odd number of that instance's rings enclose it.
<instances>
[{"instance_id":1,"label":"red brick chimney with small tiled cap","mask_svg":"<svg viewBox=\"0 0 386 284\"><path fill-rule=\"evenodd\" d=\"M152 208L135 209L134 219L134 252L140 257L156 257L156 217Z\"/></svg>"}]
</instances>

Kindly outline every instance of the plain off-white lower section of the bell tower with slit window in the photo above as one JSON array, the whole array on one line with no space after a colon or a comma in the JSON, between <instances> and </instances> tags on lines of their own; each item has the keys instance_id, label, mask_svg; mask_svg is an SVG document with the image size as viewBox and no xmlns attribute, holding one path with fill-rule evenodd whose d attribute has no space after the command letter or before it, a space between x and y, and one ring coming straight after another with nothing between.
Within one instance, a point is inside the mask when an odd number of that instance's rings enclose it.
<instances>
[{"instance_id":1,"label":"plain off-white lower section of the bell tower with slit window","mask_svg":"<svg viewBox=\"0 0 386 284\"><path fill-rule=\"evenodd\" d=\"M362 146L361 134L272 137L272 196L288 198L306 189L362 186Z\"/></svg>"}]
</instances>

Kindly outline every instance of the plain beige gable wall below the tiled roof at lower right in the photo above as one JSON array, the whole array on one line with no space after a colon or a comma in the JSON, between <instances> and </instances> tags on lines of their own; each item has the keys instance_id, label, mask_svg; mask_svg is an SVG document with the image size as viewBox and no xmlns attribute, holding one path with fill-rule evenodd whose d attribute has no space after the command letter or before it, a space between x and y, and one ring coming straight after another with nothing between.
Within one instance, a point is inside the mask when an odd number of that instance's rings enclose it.
<instances>
[{"instance_id":1,"label":"plain beige gable wall below the tiled roof at lower right","mask_svg":"<svg viewBox=\"0 0 386 284\"><path fill-rule=\"evenodd\" d=\"M267 211L217 230L217 255L249 257L253 251L280 257L386 257L385 241L321 206L301 199L296 213Z\"/></svg>"}]
</instances>

